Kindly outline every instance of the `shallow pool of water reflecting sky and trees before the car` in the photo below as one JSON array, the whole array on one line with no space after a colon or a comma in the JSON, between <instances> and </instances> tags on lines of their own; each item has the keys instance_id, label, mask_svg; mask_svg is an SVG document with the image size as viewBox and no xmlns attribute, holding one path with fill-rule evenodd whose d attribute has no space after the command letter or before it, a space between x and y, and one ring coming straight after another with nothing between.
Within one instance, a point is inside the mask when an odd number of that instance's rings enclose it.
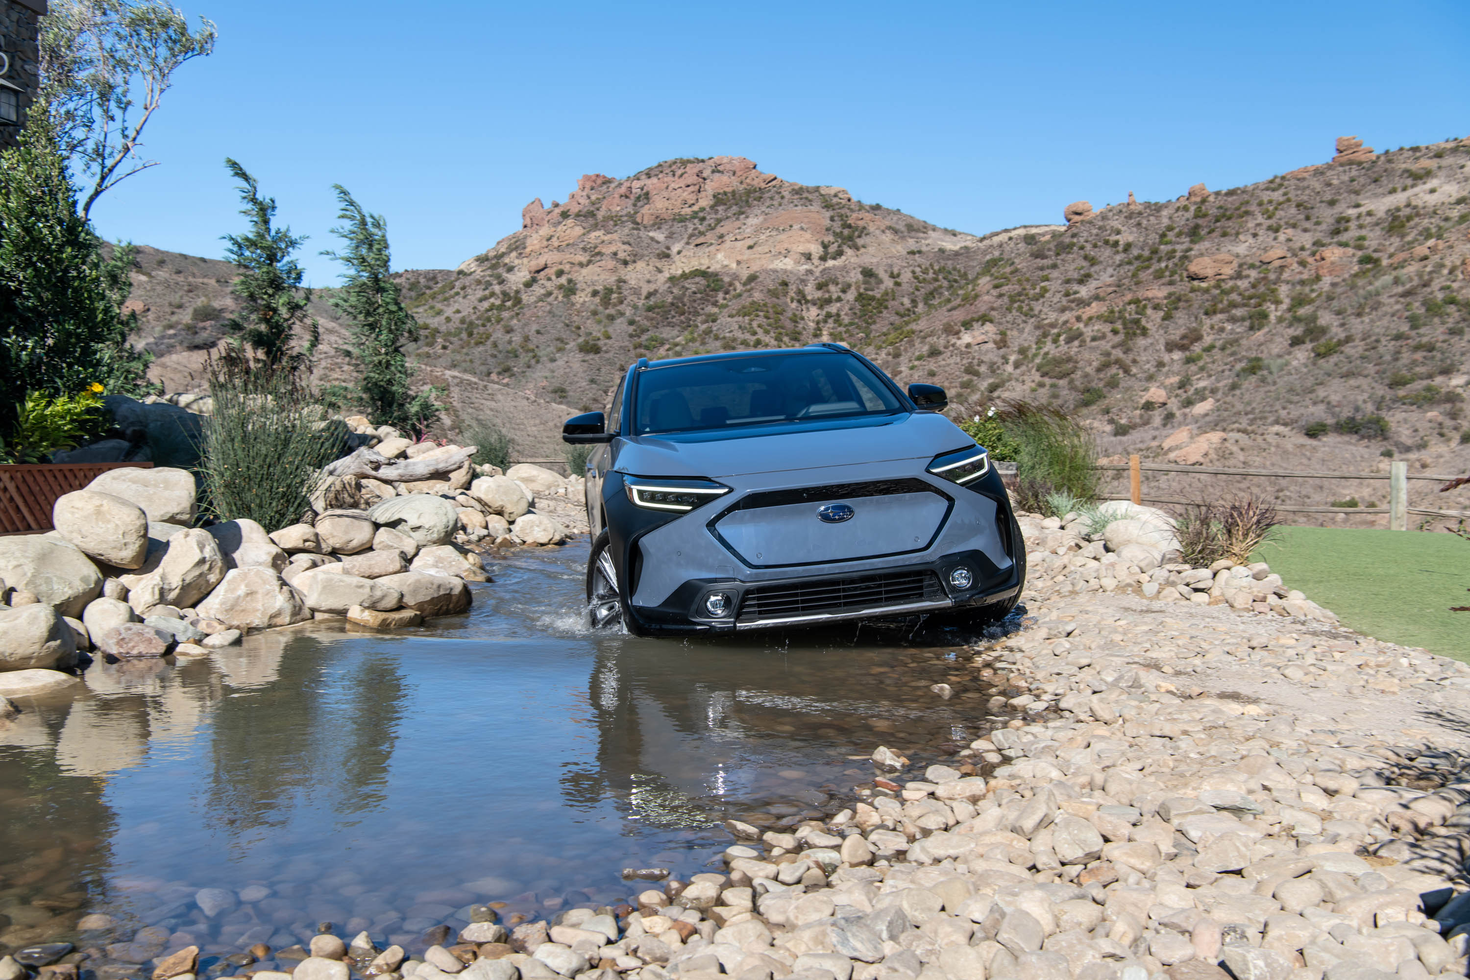
<instances>
[{"instance_id":1,"label":"shallow pool of water reflecting sky and trees before the car","mask_svg":"<svg viewBox=\"0 0 1470 980\"><path fill-rule=\"evenodd\" d=\"M26 705L0 729L0 943L71 937L87 911L216 951L318 921L412 943L476 901L612 902L622 867L704 868L726 815L836 810L876 741L973 738L954 636L594 636L584 560L501 561L432 627L97 663L85 692ZM206 917L201 887L235 905Z\"/></svg>"}]
</instances>

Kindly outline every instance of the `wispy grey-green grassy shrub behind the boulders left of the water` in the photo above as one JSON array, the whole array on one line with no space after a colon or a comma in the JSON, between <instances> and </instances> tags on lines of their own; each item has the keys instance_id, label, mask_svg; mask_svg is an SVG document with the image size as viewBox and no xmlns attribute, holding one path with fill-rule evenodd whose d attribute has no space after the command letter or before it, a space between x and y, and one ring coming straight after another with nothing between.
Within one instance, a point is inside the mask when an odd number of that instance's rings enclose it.
<instances>
[{"instance_id":1,"label":"wispy grey-green grassy shrub behind the boulders left of the water","mask_svg":"<svg viewBox=\"0 0 1470 980\"><path fill-rule=\"evenodd\" d=\"M251 366L226 351L206 372L215 400L198 447L206 513L266 530L294 525L312 505L318 472L345 453L345 426L326 419L287 364Z\"/></svg>"}]
</instances>

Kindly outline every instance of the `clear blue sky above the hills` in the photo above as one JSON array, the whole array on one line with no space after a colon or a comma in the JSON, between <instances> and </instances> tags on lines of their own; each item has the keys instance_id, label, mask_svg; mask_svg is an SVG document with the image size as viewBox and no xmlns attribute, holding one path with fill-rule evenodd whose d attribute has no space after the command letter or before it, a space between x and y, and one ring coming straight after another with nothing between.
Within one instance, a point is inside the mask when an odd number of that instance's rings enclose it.
<instances>
[{"instance_id":1,"label":"clear blue sky above the hills","mask_svg":"<svg viewBox=\"0 0 1470 980\"><path fill-rule=\"evenodd\" d=\"M219 257L232 156L310 235L334 182L388 217L395 267L453 267L582 173L741 154L986 232L1247 184L1332 153L1470 134L1470 4L503 4L176 0L219 25L147 131L160 166L93 216Z\"/></svg>"}]
</instances>

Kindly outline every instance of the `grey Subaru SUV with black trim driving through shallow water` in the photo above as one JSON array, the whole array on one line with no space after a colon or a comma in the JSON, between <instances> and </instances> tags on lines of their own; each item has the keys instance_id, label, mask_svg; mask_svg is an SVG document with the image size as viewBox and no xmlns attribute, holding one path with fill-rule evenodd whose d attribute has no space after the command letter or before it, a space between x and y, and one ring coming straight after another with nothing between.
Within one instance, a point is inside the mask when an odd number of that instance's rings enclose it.
<instances>
[{"instance_id":1,"label":"grey Subaru SUV with black trim driving through shallow water","mask_svg":"<svg viewBox=\"0 0 1470 980\"><path fill-rule=\"evenodd\" d=\"M719 633L1004 617L1026 550L986 451L841 344L639 360L587 460L594 626Z\"/></svg>"}]
</instances>

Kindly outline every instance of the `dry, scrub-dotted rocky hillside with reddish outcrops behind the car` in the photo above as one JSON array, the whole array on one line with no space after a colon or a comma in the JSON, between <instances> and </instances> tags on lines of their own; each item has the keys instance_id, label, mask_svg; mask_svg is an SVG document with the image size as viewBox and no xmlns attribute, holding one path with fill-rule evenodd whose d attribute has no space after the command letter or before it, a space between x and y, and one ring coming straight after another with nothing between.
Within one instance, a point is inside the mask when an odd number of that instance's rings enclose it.
<instances>
[{"instance_id":1,"label":"dry, scrub-dotted rocky hillside with reddish outcrops behind the car","mask_svg":"<svg viewBox=\"0 0 1470 980\"><path fill-rule=\"evenodd\" d=\"M835 339L901 382L945 385L966 411L998 398L1078 410L1110 455L1460 472L1467 162L1470 141L1374 153L1342 138L1330 160L1261 184L1098 212L1076 201L1058 209L1066 223L975 237L742 157L670 160L587 175L457 270L403 279L426 328L422 364L535 404L601 407L639 356ZM216 336L223 263L146 250L140 276L135 295L168 310L146 317L150 345ZM340 335L325 304L319 316ZM1314 504L1382 495L1282 489ZM1414 502L1470 507L1461 497Z\"/></svg>"}]
</instances>

